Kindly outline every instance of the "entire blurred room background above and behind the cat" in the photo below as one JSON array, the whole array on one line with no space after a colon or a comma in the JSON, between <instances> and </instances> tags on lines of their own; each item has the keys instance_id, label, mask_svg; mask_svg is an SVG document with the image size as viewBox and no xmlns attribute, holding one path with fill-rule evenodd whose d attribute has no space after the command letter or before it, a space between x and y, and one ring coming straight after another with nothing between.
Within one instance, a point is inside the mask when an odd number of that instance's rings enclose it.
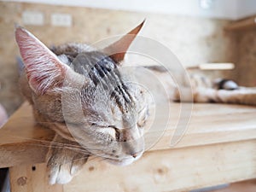
<instances>
[{"instance_id":1,"label":"entire blurred room background above and behind the cat","mask_svg":"<svg viewBox=\"0 0 256 192\"><path fill-rule=\"evenodd\" d=\"M0 1L0 103L10 115L20 106L15 23L44 44L95 43L125 34L146 19L140 35L166 45L184 67L232 62L209 77L256 86L255 0L19 0Z\"/></svg>"}]
</instances>

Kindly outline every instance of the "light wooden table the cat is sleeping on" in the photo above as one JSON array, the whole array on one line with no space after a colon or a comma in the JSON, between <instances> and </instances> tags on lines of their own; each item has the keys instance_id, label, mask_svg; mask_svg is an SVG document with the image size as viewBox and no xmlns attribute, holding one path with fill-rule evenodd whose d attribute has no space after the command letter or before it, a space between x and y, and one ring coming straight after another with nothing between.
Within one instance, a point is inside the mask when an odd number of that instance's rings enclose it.
<instances>
[{"instance_id":1,"label":"light wooden table the cat is sleeping on","mask_svg":"<svg viewBox=\"0 0 256 192\"><path fill-rule=\"evenodd\" d=\"M35 124L25 102L0 130L0 167L10 167L15 192L188 191L256 177L255 107L194 104L188 131L171 147L179 105L171 104L160 141L131 166L91 159L71 183L49 186L45 143L54 133Z\"/></svg>"}]
</instances>

